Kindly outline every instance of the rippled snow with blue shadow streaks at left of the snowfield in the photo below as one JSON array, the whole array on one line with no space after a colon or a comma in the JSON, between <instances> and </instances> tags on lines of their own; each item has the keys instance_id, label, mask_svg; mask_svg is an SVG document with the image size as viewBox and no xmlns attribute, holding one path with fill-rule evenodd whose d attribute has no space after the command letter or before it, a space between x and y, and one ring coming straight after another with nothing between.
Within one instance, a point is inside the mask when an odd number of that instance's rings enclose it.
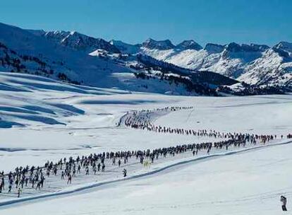
<instances>
[{"instance_id":1,"label":"rippled snow with blue shadow streaks at left of the snowfield","mask_svg":"<svg viewBox=\"0 0 292 215\"><path fill-rule=\"evenodd\" d=\"M101 88L73 86L25 74L2 72L0 79L6 86L6 88L0 89L1 127L11 127L13 124L15 126L23 126L28 122L30 124L39 122L41 124L65 125L66 122L61 122L61 117L84 115L85 111L76 108L74 105L63 103L62 100L78 98L78 94L79 96L84 96L87 94L127 93ZM63 97L64 94L66 94L65 98L58 98L60 95ZM54 98L55 95L57 98ZM13 121L15 122L13 123Z\"/></svg>"}]
</instances>

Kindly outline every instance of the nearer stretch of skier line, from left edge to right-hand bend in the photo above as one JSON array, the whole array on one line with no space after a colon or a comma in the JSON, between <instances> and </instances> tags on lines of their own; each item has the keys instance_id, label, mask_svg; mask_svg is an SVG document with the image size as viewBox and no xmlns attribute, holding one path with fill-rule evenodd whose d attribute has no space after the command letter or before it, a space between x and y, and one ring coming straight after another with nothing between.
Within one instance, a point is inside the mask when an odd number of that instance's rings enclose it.
<instances>
[{"instance_id":1,"label":"nearer stretch of skier line, from left edge to right-hand bend","mask_svg":"<svg viewBox=\"0 0 292 215\"><path fill-rule=\"evenodd\" d=\"M289 134L291 137L291 134ZM287 136L288 137L288 136ZM166 158L166 156L176 156L178 153L192 152L193 156L196 156L198 152L206 151L210 153L212 149L230 149L231 147L245 146L245 144L257 144L266 143L272 140L271 136L261 136L255 138L253 135L241 134L236 135L235 138L218 142L205 142L200 144L182 144L177 146L171 146L166 148L159 148L154 150L138 150L138 151L116 151L116 152L103 152L103 153L90 153L89 156L78 156L77 158L69 157L62 158L57 162L47 161L42 167L35 167L28 165L25 167L18 167L13 172L4 174L0 173L0 193L5 189L5 185L8 185L8 193L14 192L20 197L20 192L26 187L34 188L35 190L41 190L44 186L46 177L54 175L61 178L59 180L65 180L64 184L71 184L73 178L78 175L96 175L97 172L103 173L106 169L107 163L112 165L118 165L128 163L129 159L135 158L142 165L145 165L145 161L154 163L159 158ZM58 173L58 174L57 174ZM123 169L123 176L126 177L126 169Z\"/></svg>"}]
</instances>

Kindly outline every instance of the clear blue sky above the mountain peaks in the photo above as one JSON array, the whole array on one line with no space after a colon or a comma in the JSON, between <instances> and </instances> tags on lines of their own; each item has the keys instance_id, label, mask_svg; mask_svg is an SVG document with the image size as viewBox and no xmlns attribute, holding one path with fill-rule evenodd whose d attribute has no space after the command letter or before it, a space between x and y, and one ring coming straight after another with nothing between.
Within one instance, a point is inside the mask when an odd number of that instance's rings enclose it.
<instances>
[{"instance_id":1,"label":"clear blue sky above the mountain peaks","mask_svg":"<svg viewBox=\"0 0 292 215\"><path fill-rule=\"evenodd\" d=\"M292 42L292 0L1 0L0 22L137 43Z\"/></svg>"}]
</instances>

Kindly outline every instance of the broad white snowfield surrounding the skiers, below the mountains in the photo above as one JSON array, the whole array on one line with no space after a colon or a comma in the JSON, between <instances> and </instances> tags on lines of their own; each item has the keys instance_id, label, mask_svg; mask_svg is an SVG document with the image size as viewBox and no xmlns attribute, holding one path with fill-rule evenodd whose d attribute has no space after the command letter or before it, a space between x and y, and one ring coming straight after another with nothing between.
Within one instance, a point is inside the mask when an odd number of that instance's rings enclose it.
<instances>
[{"instance_id":1,"label":"broad white snowfield surrounding the skiers, below the mountains","mask_svg":"<svg viewBox=\"0 0 292 215\"><path fill-rule=\"evenodd\" d=\"M222 140L118 126L123 116L135 110L192 106L157 113L152 122L171 128L277 136L269 144L248 144L228 153L202 151L195 158L183 153L159 159L150 168L133 158L126 166L129 178L125 181L111 163L106 174L83 175L72 185L52 176L44 190L24 191L19 199L5 190L0 194L0 214L279 214L281 194L288 197L290 208L292 145L286 135L292 133L292 95L161 95L1 72L0 98L0 170L5 173L19 165L42 166L70 156ZM107 183L97 186L100 182ZM47 194L52 196L1 206Z\"/></svg>"}]
</instances>

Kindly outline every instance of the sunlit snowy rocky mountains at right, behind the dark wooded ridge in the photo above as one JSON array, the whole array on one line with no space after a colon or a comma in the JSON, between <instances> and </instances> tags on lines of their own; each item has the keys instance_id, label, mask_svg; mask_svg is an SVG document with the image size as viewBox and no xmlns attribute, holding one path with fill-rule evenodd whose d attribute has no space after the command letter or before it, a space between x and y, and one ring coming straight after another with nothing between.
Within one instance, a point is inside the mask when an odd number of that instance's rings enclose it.
<instances>
[{"instance_id":1,"label":"sunlit snowy rocky mountains at right, behind the dark wooded ridge","mask_svg":"<svg viewBox=\"0 0 292 215\"><path fill-rule=\"evenodd\" d=\"M214 71L245 83L291 86L292 43L279 42L274 47L235 42L207 44L205 48L178 46L165 50L142 47L141 52L184 68Z\"/></svg>"}]
</instances>

